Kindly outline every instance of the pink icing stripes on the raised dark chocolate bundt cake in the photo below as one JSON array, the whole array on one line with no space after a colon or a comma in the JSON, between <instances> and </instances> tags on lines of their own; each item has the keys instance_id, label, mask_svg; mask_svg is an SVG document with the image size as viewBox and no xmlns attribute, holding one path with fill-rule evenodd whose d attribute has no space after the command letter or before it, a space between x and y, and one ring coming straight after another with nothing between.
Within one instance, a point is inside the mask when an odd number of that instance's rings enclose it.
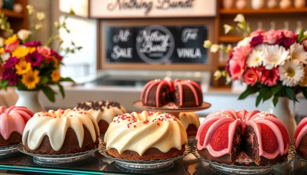
<instances>
[{"instance_id":1,"label":"pink icing stripes on the raised dark chocolate bundt cake","mask_svg":"<svg viewBox=\"0 0 307 175\"><path fill-rule=\"evenodd\" d=\"M143 96L144 96L144 93L145 93L145 99L144 99L144 102L145 104L148 102L148 96L149 96L149 93L150 93L150 90L154 87L158 85L157 87L157 91L156 91L156 106L158 107L159 106L159 94L160 94L160 91L161 91L161 88L162 86L169 86L169 90L172 92L175 90L175 86L178 87L179 89L179 96L180 96L180 105L182 105L183 103L183 90L182 90L182 85L186 85L188 86L191 90L192 90L192 93L195 97L195 102L196 102L196 105L199 105L200 101L198 99L198 96L197 96L197 91L195 89L194 86L196 86L197 89L199 89L200 92L201 91L201 88L199 86L198 83L192 81L192 80L179 80L179 79L175 79L174 81L171 81L169 79L167 80L160 80L160 79L156 79L156 80L151 80L149 82L147 82L142 90L142 93L141 93L141 100L143 100Z\"/></svg>"}]
</instances>

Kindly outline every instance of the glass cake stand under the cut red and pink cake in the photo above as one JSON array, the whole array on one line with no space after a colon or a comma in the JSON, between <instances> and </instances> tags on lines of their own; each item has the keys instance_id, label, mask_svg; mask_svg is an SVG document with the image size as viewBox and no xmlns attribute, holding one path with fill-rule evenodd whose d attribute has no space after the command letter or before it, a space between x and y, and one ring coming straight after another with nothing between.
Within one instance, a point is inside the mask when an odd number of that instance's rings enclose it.
<instances>
[{"instance_id":1,"label":"glass cake stand under the cut red and pink cake","mask_svg":"<svg viewBox=\"0 0 307 175\"><path fill-rule=\"evenodd\" d=\"M231 174L263 174L270 172L273 168L277 168L279 166L287 165L288 163L292 162L295 158L295 153L293 150L289 148L288 157L278 163L266 165L266 166L258 166L244 153L241 152L237 160L235 160L234 165L227 165L223 163L213 162L208 158L201 156L197 151L197 145L192 147L192 154L195 155L196 158L207 162L210 166L216 170L219 170L224 173L231 173Z\"/></svg>"}]
</instances>

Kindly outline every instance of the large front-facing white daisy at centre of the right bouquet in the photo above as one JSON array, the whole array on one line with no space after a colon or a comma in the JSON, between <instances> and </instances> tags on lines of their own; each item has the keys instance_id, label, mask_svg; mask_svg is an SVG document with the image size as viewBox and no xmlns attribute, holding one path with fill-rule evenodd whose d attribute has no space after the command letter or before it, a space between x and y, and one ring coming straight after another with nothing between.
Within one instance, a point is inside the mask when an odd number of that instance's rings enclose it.
<instances>
[{"instance_id":1,"label":"large front-facing white daisy at centre of the right bouquet","mask_svg":"<svg viewBox=\"0 0 307 175\"><path fill-rule=\"evenodd\" d=\"M273 67L284 65L285 60L289 55L289 51L279 45L269 45L263 51L263 66L266 70L271 70Z\"/></svg>"}]
</instances>

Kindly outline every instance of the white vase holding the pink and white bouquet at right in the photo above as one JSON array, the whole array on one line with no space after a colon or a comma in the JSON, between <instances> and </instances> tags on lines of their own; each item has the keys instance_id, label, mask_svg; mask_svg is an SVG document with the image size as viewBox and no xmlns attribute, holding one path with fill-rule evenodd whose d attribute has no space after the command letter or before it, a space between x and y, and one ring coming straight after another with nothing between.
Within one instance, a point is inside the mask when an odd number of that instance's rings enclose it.
<instances>
[{"instance_id":1,"label":"white vase holding the pink and white bouquet at right","mask_svg":"<svg viewBox=\"0 0 307 175\"><path fill-rule=\"evenodd\" d=\"M293 112L291 112L290 109L290 100L287 97L279 97L276 107L274 106L273 101L271 100L267 112L274 114L275 116L277 116L278 119L282 120L282 122L286 125L289 131L291 143L294 144L293 135L297 124L294 119Z\"/></svg>"}]
</instances>

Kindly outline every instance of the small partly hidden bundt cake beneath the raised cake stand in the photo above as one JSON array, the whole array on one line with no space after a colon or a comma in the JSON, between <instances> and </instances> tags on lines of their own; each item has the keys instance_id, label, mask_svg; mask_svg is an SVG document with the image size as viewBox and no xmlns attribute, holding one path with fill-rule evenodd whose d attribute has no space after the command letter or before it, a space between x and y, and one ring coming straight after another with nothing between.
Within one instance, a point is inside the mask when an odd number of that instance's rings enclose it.
<instances>
[{"instance_id":1,"label":"small partly hidden bundt cake beneath the raised cake stand","mask_svg":"<svg viewBox=\"0 0 307 175\"><path fill-rule=\"evenodd\" d=\"M188 136L195 136L197 134L200 122L195 112L180 112L177 118L185 127Z\"/></svg>"}]
</instances>

